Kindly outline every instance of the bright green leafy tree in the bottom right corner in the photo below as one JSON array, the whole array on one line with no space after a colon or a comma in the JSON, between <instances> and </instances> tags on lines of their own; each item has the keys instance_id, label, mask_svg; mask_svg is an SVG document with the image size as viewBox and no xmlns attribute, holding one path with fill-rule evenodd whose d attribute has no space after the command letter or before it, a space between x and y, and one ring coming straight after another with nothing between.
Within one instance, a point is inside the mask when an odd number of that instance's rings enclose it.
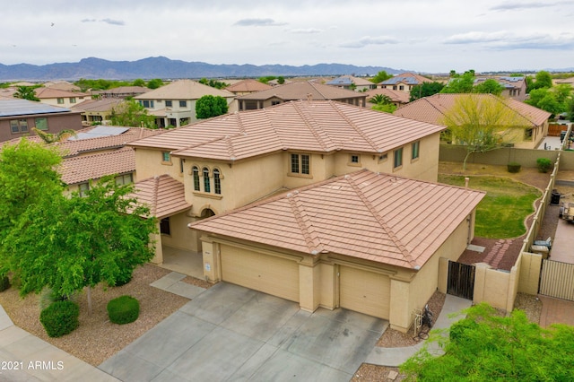
<instances>
[{"instance_id":1,"label":"bright green leafy tree in the bottom right corner","mask_svg":"<svg viewBox=\"0 0 574 382\"><path fill-rule=\"evenodd\" d=\"M450 334L433 331L422 350L401 365L413 381L570 381L574 380L574 327L543 329L522 310L497 315L481 303ZM433 356L434 347L444 352Z\"/></svg>"}]
</instances>

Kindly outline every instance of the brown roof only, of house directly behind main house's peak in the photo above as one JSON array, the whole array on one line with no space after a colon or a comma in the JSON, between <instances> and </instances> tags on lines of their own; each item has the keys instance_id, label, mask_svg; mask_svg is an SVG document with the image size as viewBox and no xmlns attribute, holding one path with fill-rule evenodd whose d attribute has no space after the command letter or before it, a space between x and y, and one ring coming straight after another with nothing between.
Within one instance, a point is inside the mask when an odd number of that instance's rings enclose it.
<instances>
[{"instance_id":1,"label":"brown roof only, of house directly behind main house's peak","mask_svg":"<svg viewBox=\"0 0 574 382\"><path fill-rule=\"evenodd\" d=\"M317 82L291 82L274 86L267 91L257 91L255 93L239 96L238 100L269 100L279 98L280 100L307 100L310 94L311 100L348 100L363 99L364 94L357 91L348 91L336 86L324 85Z\"/></svg>"}]
</instances>

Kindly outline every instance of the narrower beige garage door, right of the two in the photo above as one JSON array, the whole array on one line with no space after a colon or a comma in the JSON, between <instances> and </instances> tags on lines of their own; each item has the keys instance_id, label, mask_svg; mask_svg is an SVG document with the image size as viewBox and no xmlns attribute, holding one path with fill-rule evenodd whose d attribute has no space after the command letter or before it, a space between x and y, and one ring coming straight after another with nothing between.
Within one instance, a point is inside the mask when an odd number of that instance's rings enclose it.
<instances>
[{"instance_id":1,"label":"narrower beige garage door, right of the two","mask_svg":"<svg viewBox=\"0 0 574 382\"><path fill-rule=\"evenodd\" d=\"M391 281L384 274L339 267L339 306L388 319Z\"/></svg>"}]
</instances>

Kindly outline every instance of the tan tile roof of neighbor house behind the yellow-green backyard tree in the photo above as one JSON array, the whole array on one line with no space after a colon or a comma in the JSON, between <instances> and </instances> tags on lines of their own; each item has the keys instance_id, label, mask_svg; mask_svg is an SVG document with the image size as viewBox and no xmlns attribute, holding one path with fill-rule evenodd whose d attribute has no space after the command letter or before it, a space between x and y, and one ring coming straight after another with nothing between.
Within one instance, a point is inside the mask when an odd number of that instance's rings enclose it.
<instances>
[{"instance_id":1,"label":"tan tile roof of neighbor house behind the yellow-green backyard tree","mask_svg":"<svg viewBox=\"0 0 574 382\"><path fill-rule=\"evenodd\" d=\"M471 96L471 94L434 94L430 97L424 97L410 102L396 109L393 114L431 124L440 124L441 119L445 116L448 109L455 105L458 97L469 96ZM491 98L500 100L492 94L472 94L472 96L478 99ZM519 117L522 117L525 122L524 127L541 126L551 116L551 113L520 102L519 100L507 99L505 101L510 109L513 109Z\"/></svg>"}]
</instances>

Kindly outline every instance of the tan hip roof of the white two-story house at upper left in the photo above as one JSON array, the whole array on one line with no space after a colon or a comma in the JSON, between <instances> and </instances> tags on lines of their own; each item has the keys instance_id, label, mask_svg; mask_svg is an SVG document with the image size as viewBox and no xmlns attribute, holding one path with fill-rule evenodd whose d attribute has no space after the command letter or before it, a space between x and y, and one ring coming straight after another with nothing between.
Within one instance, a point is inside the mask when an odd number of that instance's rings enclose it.
<instances>
[{"instance_id":1,"label":"tan hip roof of the white two-story house at upper left","mask_svg":"<svg viewBox=\"0 0 574 382\"><path fill-rule=\"evenodd\" d=\"M199 100L204 95L235 97L230 91L222 91L192 80L171 82L161 88L135 96L135 100Z\"/></svg>"}]
</instances>

